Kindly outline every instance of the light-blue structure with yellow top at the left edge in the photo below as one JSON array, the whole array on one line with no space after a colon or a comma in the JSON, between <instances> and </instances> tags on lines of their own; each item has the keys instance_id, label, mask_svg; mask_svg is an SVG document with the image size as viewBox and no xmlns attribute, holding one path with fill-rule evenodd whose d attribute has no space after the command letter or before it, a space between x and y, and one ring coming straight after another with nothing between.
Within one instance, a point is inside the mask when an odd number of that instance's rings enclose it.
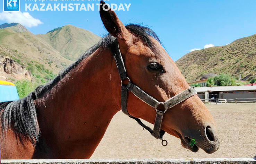
<instances>
[{"instance_id":1,"label":"light-blue structure with yellow top at the left edge","mask_svg":"<svg viewBox=\"0 0 256 164\"><path fill-rule=\"evenodd\" d=\"M19 100L16 86L8 81L0 80L0 103Z\"/></svg>"}]
</instances>

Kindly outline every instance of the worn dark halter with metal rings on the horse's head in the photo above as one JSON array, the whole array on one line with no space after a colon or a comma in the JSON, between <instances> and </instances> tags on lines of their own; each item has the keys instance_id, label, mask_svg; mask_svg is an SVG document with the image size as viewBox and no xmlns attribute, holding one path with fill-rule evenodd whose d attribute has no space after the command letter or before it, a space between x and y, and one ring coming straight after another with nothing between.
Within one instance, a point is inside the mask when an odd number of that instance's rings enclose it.
<instances>
[{"instance_id":1,"label":"worn dark halter with metal rings on the horse's head","mask_svg":"<svg viewBox=\"0 0 256 164\"><path fill-rule=\"evenodd\" d=\"M117 64L117 69L121 78L121 108L123 113L128 115L130 118L135 119L140 126L148 130L152 136L154 136L156 139L162 140L162 145L166 146L167 141L163 140L163 135L165 131L161 129L161 124L163 121L163 114L168 110L171 109L173 106L181 103L184 100L187 100L189 97L197 94L194 87L190 87L183 92L171 97L170 99L166 100L165 102L159 102L154 97L148 95L146 92L144 92L142 89L140 89L138 86L133 84L129 77L127 77L127 72L125 69L125 64L123 62L123 58L119 49L118 40L113 42L113 57ZM123 84L123 80L129 80L129 83L127 85ZM147 127L142 121L140 121L139 118L136 118L132 115L130 115L127 111L127 93L128 90L133 93L136 97L138 97L140 100L145 102L146 104L152 106L156 110L156 118L155 118L155 124L153 130L150 127ZM161 110L161 109L164 110ZM164 144L164 141L166 144Z\"/></svg>"}]
</instances>

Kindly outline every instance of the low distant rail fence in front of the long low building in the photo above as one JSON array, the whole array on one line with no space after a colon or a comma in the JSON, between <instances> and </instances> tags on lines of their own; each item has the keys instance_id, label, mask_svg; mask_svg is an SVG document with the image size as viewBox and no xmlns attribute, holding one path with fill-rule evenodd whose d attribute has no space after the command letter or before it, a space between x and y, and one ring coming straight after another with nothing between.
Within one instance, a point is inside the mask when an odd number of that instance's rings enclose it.
<instances>
[{"instance_id":1,"label":"low distant rail fence in front of the long low building","mask_svg":"<svg viewBox=\"0 0 256 164\"><path fill-rule=\"evenodd\" d=\"M224 98L214 98L214 99L201 99L203 103L256 103L256 98L233 98L233 99L224 99Z\"/></svg>"}]
</instances>

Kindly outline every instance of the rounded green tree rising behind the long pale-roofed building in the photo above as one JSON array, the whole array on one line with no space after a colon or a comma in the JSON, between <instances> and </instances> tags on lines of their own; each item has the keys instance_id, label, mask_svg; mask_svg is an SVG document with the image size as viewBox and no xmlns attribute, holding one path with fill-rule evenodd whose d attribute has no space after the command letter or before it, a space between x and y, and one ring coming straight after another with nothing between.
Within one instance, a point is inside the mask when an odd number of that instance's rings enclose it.
<instances>
[{"instance_id":1,"label":"rounded green tree rising behind the long pale-roofed building","mask_svg":"<svg viewBox=\"0 0 256 164\"><path fill-rule=\"evenodd\" d=\"M230 74L220 74L213 78L214 84L217 86L231 86L237 85L236 79L232 77Z\"/></svg>"}]
</instances>

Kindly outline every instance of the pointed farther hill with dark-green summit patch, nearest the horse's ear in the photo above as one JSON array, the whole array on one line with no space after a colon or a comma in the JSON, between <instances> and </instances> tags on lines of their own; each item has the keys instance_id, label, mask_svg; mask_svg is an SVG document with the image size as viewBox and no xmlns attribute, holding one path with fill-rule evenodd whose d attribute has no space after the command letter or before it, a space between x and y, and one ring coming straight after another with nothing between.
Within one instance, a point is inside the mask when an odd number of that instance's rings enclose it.
<instances>
[{"instance_id":1,"label":"pointed farther hill with dark-green summit patch, nearest the horse's ear","mask_svg":"<svg viewBox=\"0 0 256 164\"><path fill-rule=\"evenodd\" d=\"M69 60L76 60L100 40L100 37L92 32L72 25L62 26L38 36Z\"/></svg>"}]
</instances>

